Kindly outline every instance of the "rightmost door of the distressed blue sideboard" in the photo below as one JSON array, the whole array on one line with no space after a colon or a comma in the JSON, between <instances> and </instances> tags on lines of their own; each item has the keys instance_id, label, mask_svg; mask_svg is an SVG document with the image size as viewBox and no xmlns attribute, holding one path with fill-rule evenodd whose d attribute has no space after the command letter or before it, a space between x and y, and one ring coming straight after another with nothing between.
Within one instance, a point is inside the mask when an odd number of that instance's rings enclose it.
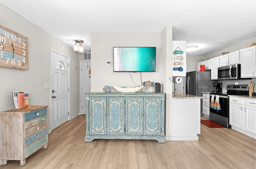
<instances>
[{"instance_id":1,"label":"rightmost door of the distressed blue sideboard","mask_svg":"<svg viewBox=\"0 0 256 169\"><path fill-rule=\"evenodd\" d=\"M159 113L161 107L159 98L146 98L145 101L145 135L160 135L161 114Z\"/></svg>"}]
</instances>

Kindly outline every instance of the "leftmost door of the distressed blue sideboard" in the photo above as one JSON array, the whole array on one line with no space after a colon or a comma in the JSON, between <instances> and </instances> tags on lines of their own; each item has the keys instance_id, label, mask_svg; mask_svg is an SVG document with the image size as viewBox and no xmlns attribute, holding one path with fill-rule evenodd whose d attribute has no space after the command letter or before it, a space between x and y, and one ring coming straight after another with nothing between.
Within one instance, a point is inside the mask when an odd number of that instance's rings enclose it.
<instances>
[{"instance_id":1,"label":"leftmost door of the distressed blue sideboard","mask_svg":"<svg viewBox=\"0 0 256 169\"><path fill-rule=\"evenodd\" d=\"M106 98L91 99L90 134L106 134Z\"/></svg>"}]
</instances>

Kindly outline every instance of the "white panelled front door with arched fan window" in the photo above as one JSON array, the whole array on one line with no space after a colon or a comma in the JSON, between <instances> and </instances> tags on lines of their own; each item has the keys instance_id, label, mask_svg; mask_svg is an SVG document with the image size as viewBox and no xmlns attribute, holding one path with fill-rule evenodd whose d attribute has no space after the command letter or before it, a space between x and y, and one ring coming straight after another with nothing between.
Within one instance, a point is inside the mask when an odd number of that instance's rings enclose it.
<instances>
[{"instance_id":1,"label":"white panelled front door with arched fan window","mask_svg":"<svg viewBox=\"0 0 256 169\"><path fill-rule=\"evenodd\" d=\"M69 58L51 49L51 130L69 119Z\"/></svg>"}]
</instances>

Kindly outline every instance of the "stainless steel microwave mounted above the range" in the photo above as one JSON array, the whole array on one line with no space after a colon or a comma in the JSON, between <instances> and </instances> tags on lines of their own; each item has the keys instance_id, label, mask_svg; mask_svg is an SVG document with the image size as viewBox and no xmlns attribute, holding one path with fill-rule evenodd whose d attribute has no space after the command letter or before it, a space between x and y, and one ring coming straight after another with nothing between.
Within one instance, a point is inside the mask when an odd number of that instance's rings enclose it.
<instances>
[{"instance_id":1,"label":"stainless steel microwave mounted above the range","mask_svg":"<svg viewBox=\"0 0 256 169\"><path fill-rule=\"evenodd\" d=\"M229 65L225 67L218 67L218 80L240 79L241 65Z\"/></svg>"}]
</instances>

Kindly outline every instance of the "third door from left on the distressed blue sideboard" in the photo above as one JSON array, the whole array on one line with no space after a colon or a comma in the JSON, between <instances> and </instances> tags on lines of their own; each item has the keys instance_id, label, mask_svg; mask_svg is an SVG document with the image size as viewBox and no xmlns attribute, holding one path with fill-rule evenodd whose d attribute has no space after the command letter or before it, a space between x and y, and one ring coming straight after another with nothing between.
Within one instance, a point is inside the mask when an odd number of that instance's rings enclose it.
<instances>
[{"instance_id":1,"label":"third door from left on the distressed blue sideboard","mask_svg":"<svg viewBox=\"0 0 256 169\"><path fill-rule=\"evenodd\" d=\"M143 98L126 98L126 135L142 135L142 100Z\"/></svg>"}]
</instances>

